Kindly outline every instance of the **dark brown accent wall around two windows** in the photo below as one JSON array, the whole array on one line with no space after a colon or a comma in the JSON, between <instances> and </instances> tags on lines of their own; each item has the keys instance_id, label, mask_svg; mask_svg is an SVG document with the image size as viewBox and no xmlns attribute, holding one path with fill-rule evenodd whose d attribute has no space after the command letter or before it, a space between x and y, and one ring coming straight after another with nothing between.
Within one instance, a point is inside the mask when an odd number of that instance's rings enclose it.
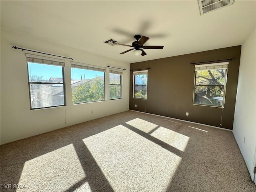
<instances>
[{"instance_id":1,"label":"dark brown accent wall around two windows","mask_svg":"<svg viewBox=\"0 0 256 192\"><path fill-rule=\"evenodd\" d=\"M233 128L241 46L130 64L130 110L147 112L216 127ZM224 108L193 105L194 62L237 58L228 64ZM224 61L222 61L224 62ZM214 63L214 62L213 62ZM148 70L147 100L132 98L132 70ZM135 107L137 104L137 107ZM222 112L223 109L223 112ZM189 116L186 116L189 112ZM222 116L222 126L220 125Z\"/></svg>"}]
</instances>

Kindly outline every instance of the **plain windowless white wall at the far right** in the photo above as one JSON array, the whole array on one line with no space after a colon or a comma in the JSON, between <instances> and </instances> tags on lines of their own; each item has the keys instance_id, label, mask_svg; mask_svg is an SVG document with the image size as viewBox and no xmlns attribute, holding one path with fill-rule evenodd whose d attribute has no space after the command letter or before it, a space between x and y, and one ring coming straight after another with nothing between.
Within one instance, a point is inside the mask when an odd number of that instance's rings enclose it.
<instances>
[{"instance_id":1,"label":"plain windowless white wall at the far right","mask_svg":"<svg viewBox=\"0 0 256 192\"><path fill-rule=\"evenodd\" d=\"M242 44L233 134L253 179L256 148L256 33ZM245 142L244 142L245 138Z\"/></svg>"}]
</instances>

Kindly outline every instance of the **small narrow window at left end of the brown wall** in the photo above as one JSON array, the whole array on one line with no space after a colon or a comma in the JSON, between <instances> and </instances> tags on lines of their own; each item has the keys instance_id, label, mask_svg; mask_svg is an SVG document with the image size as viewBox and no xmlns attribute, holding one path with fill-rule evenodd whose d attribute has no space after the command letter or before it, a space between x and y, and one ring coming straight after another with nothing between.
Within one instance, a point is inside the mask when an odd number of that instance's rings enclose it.
<instances>
[{"instance_id":1,"label":"small narrow window at left end of the brown wall","mask_svg":"<svg viewBox=\"0 0 256 192\"><path fill-rule=\"evenodd\" d=\"M133 97L146 99L148 89L148 70L133 72Z\"/></svg>"}]
</instances>

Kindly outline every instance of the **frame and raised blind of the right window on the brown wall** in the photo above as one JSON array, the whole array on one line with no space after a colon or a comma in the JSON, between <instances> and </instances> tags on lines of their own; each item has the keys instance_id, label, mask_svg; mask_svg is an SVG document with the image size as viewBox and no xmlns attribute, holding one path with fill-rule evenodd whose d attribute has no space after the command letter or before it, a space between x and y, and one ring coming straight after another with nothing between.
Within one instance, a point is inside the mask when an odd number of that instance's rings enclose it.
<instances>
[{"instance_id":1,"label":"frame and raised blind of the right window on the brown wall","mask_svg":"<svg viewBox=\"0 0 256 192\"><path fill-rule=\"evenodd\" d=\"M220 63L212 63L212 64L195 65L194 90L193 90L193 105L224 108L224 106L225 106L225 99L226 99L226 86L227 86L227 79L228 79L228 64L229 64L229 62L220 62ZM197 69L197 68L198 68L198 69ZM218 84L213 84L213 85L209 85L209 84L198 84L198 85L196 85L196 72L197 72L197 71L214 70L214 69L226 69L224 84L221 84L221 85L218 85ZM210 87L214 87L214 86L223 86L223 91L222 91L222 92L223 92L222 106L207 105L207 104L195 104L196 86L210 86Z\"/></svg>"}]
</instances>

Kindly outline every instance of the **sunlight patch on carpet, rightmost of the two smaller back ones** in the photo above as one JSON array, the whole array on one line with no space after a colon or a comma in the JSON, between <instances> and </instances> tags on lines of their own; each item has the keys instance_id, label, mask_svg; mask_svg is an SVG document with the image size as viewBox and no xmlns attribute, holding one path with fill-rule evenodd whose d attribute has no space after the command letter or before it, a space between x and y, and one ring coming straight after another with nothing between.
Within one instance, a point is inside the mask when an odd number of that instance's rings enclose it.
<instances>
[{"instance_id":1,"label":"sunlight patch on carpet, rightmost of the two smaller back ones","mask_svg":"<svg viewBox=\"0 0 256 192\"><path fill-rule=\"evenodd\" d=\"M185 151L189 140L188 136L182 135L164 127L159 127L150 135L181 151Z\"/></svg>"}]
</instances>

